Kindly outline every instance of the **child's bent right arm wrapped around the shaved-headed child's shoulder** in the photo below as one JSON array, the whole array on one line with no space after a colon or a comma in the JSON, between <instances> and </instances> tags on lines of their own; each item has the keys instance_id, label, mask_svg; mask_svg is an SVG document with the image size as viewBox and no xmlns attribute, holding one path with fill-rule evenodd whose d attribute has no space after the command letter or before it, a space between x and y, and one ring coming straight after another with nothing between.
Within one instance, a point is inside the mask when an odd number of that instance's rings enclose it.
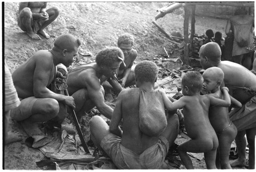
<instances>
[{"instance_id":1,"label":"child's bent right arm wrapped around the shaved-headed child's shoulder","mask_svg":"<svg viewBox=\"0 0 256 172\"><path fill-rule=\"evenodd\" d=\"M224 100L218 99L214 96L208 96L210 99L210 104L214 105L214 106L229 107L231 105L231 100L230 100L230 96L228 94L228 88L222 87L221 90L223 91L223 94L224 94Z\"/></svg>"}]
</instances>

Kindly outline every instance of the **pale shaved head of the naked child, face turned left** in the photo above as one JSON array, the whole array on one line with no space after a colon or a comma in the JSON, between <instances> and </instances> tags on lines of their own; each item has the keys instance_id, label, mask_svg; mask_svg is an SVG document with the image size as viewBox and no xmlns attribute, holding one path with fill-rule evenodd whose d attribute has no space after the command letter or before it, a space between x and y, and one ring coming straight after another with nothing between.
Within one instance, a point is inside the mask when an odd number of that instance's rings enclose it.
<instances>
[{"instance_id":1,"label":"pale shaved head of the naked child, face turned left","mask_svg":"<svg viewBox=\"0 0 256 172\"><path fill-rule=\"evenodd\" d=\"M210 67L204 71L203 79L203 89L215 92L224 79L224 72L219 67Z\"/></svg>"}]
</instances>

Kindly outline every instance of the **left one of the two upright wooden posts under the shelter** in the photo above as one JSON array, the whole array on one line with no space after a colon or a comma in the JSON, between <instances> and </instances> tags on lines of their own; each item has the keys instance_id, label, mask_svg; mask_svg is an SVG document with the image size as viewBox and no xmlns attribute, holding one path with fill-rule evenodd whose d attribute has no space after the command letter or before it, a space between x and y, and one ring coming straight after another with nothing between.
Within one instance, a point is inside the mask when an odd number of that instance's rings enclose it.
<instances>
[{"instance_id":1,"label":"left one of the two upright wooden posts under the shelter","mask_svg":"<svg viewBox=\"0 0 256 172\"><path fill-rule=\"evenodd\" d=\"M189 65L189 42L188 42L188 26L189 26L189 6L184 6L184 57L183 63Z\"/></svg>"}]
</instances>

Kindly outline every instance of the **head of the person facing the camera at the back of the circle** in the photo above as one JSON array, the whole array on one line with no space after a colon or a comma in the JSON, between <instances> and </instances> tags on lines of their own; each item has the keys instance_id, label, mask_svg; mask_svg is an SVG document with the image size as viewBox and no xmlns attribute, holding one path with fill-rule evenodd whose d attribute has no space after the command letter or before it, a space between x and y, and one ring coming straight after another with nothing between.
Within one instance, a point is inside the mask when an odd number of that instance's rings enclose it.
<instances>
[{"instance_id":1,"label":"head of the person facing the camera at the back of the circle","mask_svg":"<svg viewBox=\"0 0 256 172\"><path fill-rule=\"evenodd\" d=\"M118 37L117 46L122 50L124 57L130 55L133 50L134 37L131 34L122 34Z\"/></svg>"}]
</instances>

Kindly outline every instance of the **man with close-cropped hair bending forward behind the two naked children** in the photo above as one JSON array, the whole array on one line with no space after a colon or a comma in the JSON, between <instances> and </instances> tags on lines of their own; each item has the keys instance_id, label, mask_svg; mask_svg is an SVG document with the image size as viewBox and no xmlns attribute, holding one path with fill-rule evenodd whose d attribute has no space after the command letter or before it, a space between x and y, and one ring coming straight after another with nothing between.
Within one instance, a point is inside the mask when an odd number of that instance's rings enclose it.
<instances>
[{"instance_id":1,"label":"man with close-cropped hair bending forward behind the two naked children","mask_svg":"<svg viewBox=\"0 0 256 172\"><path fill-rule=\"evenodd\" d=\"M238 129L236 143L239 158L231 166L245 165L246 139L249 144L249 168L254 168L254 143L256 135L256 76L244 66L230 61L221 61L220 46L216 42L209 42L201 46L199 51L200 63L204 69L219 67L224 72L221 87L229 88L229 94L242 103L241 108L234 108L230 113L230 120Z\"/></svg>"}]
</instances>

